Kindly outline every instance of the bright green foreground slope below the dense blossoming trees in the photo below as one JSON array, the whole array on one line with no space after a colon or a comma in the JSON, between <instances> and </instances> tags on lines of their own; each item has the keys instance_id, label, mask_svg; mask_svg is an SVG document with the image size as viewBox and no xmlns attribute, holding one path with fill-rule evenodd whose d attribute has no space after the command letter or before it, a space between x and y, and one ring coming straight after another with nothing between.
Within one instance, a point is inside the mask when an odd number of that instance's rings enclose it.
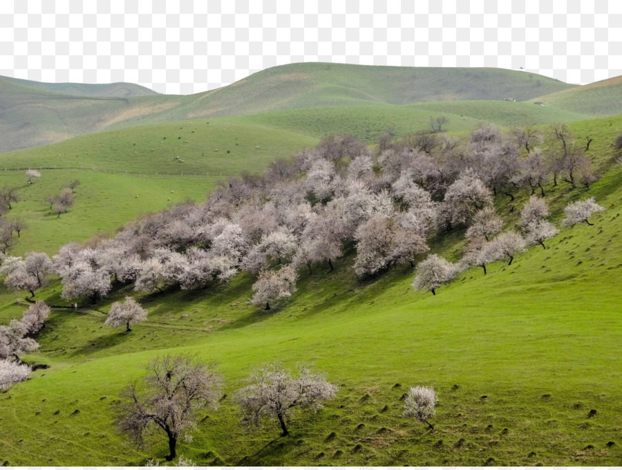
<instances>
[{"instance_id":1,"label":"bright green foreground slope below the dense blossoming trees","mask_svg":"<svg viewBox=\"0 0 622 470\"><path fill-rule=\"evenodd\" d=\"M573 124L578 134L598 132L590 151L597 164L610 162L607 142L621 122L606 121ZM409 267L357 281L348 256L334 272L302 274L298 292L270 314L246 305L247 275L214 290L140 297L149 321L127 335L104 326L98 310L55 310L29 358L50 368L0 395L2 459L101 466L164 455L163 440L142 450L126 443L114 403L151 357L189 351L218 361L227 393L180 445L197 464L614 465L622 459L622 168L589 191L546 189L556 223L568 198L594 196L607 210L593 227L563 229L548 250L491 265L487 276L473 269L436 296L413 292ZM497 202L516 220L507 198ZM433 250L453 258L460 240ZM128 289L98 308L107 311ZM37 297L63 303L58 294L56 284ZM15 295L0 300L2 323L25 308ZM296 415L288 438L276 424L241 428L231 400L254 366L277 359L312 361L340 386L319 414ZM415 384L440 397L434 431L401 417L399 399Z\"/></svg>"}]
</instances>

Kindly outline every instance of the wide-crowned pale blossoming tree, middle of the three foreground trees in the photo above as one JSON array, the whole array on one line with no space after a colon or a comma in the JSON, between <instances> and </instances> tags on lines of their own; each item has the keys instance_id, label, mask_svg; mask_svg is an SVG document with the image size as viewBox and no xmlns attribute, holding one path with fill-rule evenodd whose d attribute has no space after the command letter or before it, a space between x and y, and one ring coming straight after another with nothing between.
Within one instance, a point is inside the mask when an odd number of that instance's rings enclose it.
<instances>
[{"instance_id":1,"label":"wide-crowned pale blossoming tree, middle of the three foreground trees","mask_svg":"<svg viewBox=\"0 0 622 470\"><path fill-rule=\"evenodd\" d=\"M245 414L243 424L261 426L262 417L276 417L284 436L289 434L285 420L294 408L318 411L338 390L324 375L313 373L305 364L299 366L298 377L292 377L280 362L263 364L254 370L248 382L236 393L236 402Z\"/></svg>"}]
</instances>

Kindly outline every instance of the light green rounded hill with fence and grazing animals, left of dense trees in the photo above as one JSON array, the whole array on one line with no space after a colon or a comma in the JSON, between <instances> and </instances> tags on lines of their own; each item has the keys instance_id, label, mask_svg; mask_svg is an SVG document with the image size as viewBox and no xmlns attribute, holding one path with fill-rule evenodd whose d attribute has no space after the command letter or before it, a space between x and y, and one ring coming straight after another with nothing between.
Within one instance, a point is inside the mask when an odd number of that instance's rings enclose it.
<instances>
[{"instance_id":1,"label":"light green rounded hill with fence and grazing animals, left of dense trees","mask_svg":"<svg viewBox=\"0 0 622 470\"><path fill-rule=\"evenodd\" d=\"M11 252L52 253L70 240L113 232L138 214L186 198L203 200L221 178L241 171L261 172L276 158L316 143L314 138L279 129L194 121L83 135L4 153L0 187L17 187L20 198L7 216L21 216L29 225L15 238ZM27 184L24 171L3 171L28 167L44 167L32 185ZM82 183L76 190L75 207L57 219L44 199L75 179Z\"/></svg>"}]
</instances>

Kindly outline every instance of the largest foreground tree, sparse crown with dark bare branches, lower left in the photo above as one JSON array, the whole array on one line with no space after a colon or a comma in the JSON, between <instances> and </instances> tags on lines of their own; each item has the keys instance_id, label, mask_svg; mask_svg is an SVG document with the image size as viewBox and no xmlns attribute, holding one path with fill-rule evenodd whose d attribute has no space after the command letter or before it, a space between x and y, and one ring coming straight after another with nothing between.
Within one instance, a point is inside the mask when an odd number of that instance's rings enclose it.
<instances>
[{"instance_id":1,"label":"largest foreground tree, sparse crown with dark bare branches, lower left","mask_svg":"<svg viewBox=\"0 0 622 470\"><path fill-rule=\"evenodd\" d=\"M158 357L149 371L124 391L117 423L138 444L154 431L166 433L170 461L178 440L198 423L198 411L218 405L222 379L214 365L198 364L189 355Z\"/></svg>"}]
</instances>

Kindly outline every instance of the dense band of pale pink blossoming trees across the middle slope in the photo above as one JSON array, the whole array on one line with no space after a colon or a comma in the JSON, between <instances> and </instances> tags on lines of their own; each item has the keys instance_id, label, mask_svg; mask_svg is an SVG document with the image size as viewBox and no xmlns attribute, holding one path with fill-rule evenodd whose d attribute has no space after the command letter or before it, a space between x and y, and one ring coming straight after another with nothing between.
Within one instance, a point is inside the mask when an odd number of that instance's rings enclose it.
<instances>
[{"instance_id":1,"label":"dense band of pale pink blossoming trees across the middle slope","mask_svg":"<svg viewBox=\"0 0 622 470\"><path fill-rule=\"evenodd\" d=\"M589 187L594 172L567 126L552 126L547 139L543 151L537 145L545 136L534 128L504 134L483 124L462 142L408 135L383 139L372 153L348 135L326 138L293 159L276 160L263 176L221 183L205 203L175 205L87 247L66 245L53 269L63 297L93 302L115 284L133 283L137 292L190 290L246 271L256 276L251 302L269 310L295 292L301 269L332 270L352 248L357 276L373 276L414 265L429 252L430 238L465 230L462 263L431 256L420 265L433 279L415 284L435 290L464 267L511 263L556 234L545 216L501 233L504 222L493 208L496 196L513 200L522 188L543 196L551 180Z\"/></svg>"}]
</instances>

